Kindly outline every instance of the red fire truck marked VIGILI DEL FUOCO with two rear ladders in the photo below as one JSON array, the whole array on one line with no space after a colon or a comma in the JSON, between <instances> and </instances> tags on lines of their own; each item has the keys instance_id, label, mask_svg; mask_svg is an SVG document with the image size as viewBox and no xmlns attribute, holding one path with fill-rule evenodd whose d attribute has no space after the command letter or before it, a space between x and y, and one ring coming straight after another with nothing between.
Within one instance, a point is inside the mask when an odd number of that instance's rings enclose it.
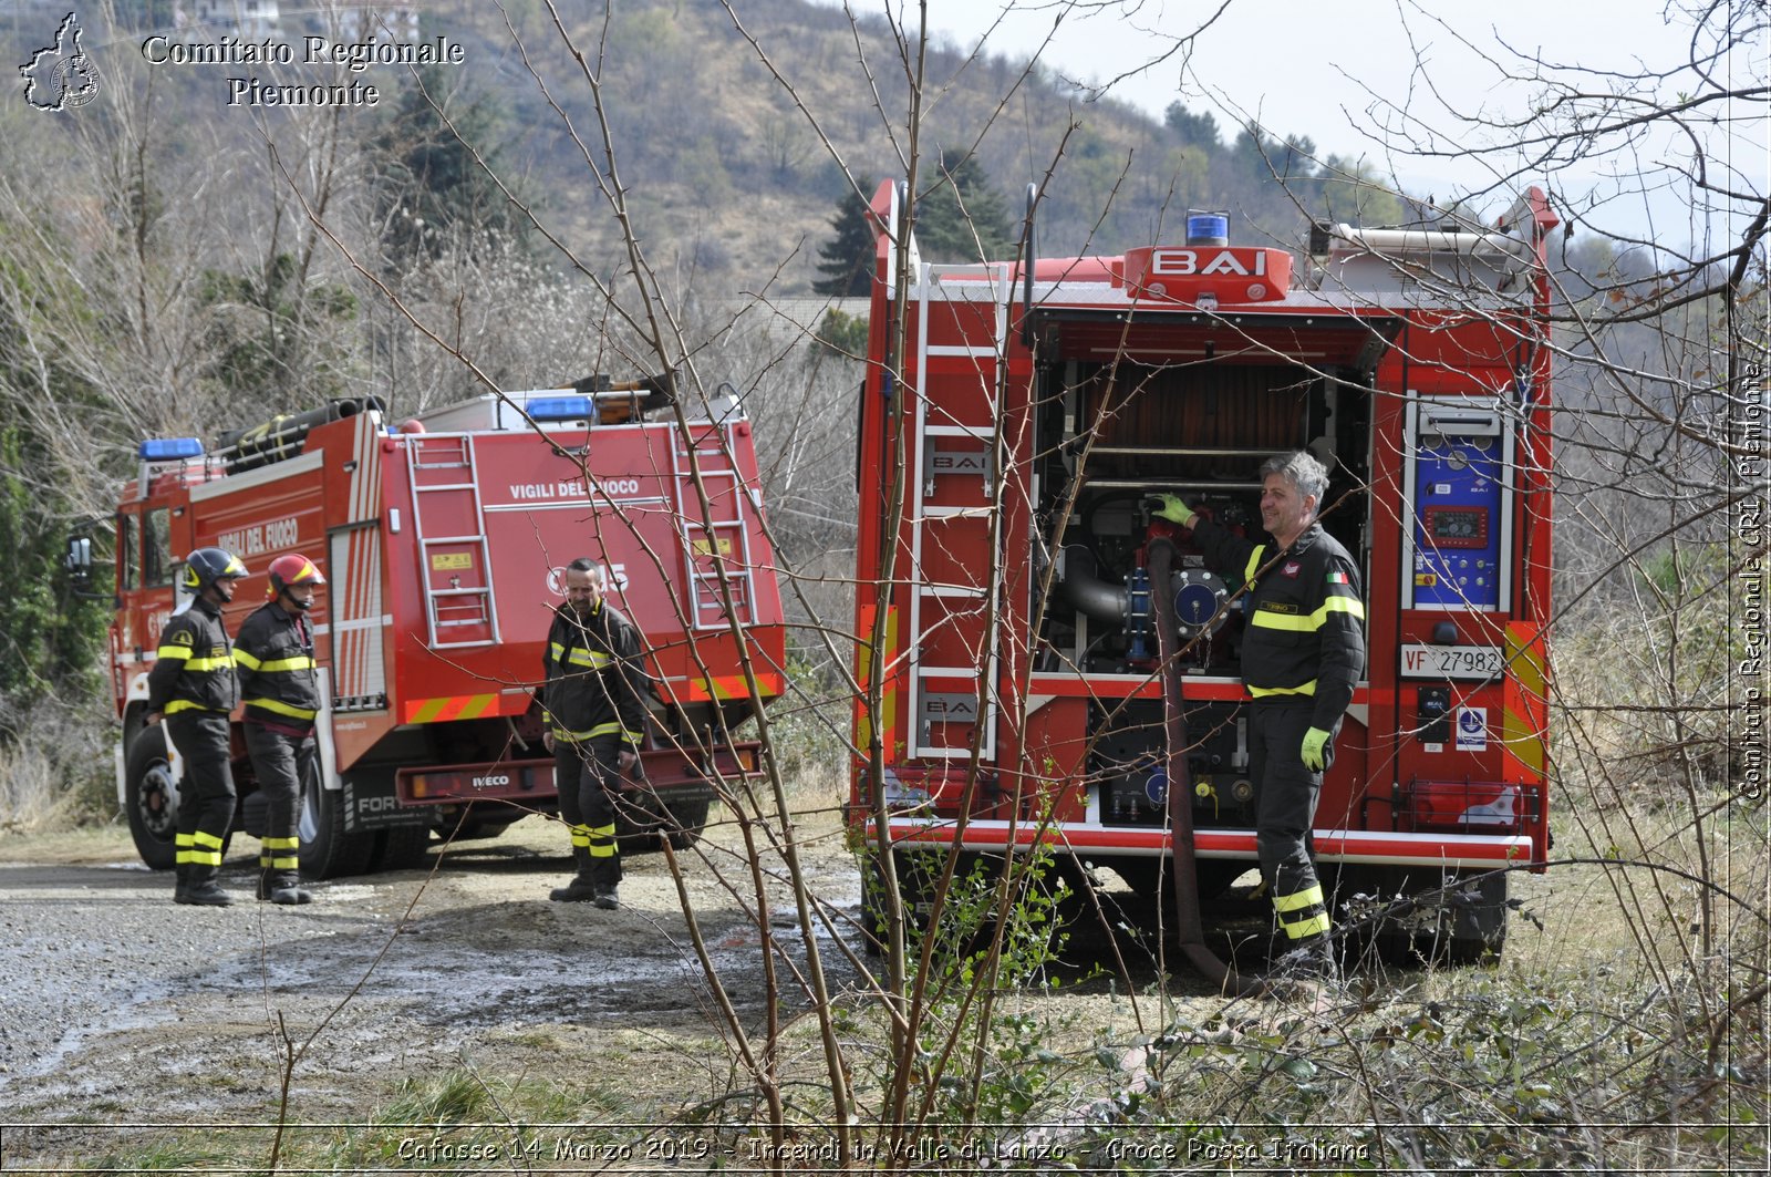
<instances>
[{"instance_id":1,"label":"red fire truck marked VIGILI DEL FUOCO with two rear ladders","mask_svg":"<svg viewBox=\"0 0 1771 1177\"><path fill-rule=\"evenodd\" d=\"M662 386L593 378L397 429L375 401L338 401L207 450L143 441L117 505L110 631L117 794L142 858L174 861L181 776L163 725L143 725L147 670L182 606L179 560L211 544L251 573L225 610L230 631L264 603L276 557L299 551L326 576L306 874L411 865L432 830L491 837L554 808L535 684L577 557L604 564L653 679L648 789L618 821L623 849L698 833L715 783L756 771L756 744L730 732L781 693L785 629L740 404L721 395L684 424ZM262 833L237 725L234 750L236 828Z\"/></svg>"}]
</instances>

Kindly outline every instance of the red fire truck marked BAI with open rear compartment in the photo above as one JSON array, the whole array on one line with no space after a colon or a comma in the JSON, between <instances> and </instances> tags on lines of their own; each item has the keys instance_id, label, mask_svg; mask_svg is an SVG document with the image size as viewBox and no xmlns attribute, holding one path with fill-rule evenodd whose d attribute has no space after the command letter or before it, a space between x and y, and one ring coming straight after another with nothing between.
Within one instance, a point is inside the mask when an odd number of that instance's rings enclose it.
<instances>
[{"instance_id":1,"label":"red fire truck marked BAI with open rear compartment","mask_svg":"<svg viewBox=\"0 0 1771 1177\"><path fill-rule=\"evenodd\" d=\"M1342 902L1433 895L1442 948L1498 950L1496 869L1550 842L1543 193L1481 230L1321 223L1293 253L1188 216L1187 245L972 266L900 253L901 200L887 183L871 204L857 837L893 847L903 886L919 851L1040 838L1153 892L1181 789L1195 897L1231 892L1256 863L1241 585L1187 535L1156 583L1151 498L1254 537L1257 466L1307 448L1369 643L1316 856Z\"/></svg>"}]
</instances>

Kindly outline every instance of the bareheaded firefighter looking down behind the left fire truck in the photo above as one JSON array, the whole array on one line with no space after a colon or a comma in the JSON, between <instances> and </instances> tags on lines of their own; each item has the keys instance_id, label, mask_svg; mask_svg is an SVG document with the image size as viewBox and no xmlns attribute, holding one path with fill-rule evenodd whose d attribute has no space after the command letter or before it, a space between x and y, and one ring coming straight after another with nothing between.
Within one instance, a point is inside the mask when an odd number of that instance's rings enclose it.
<instances>
[{"instance_id":1,"label":"bareheaded firefighter looking down behind the left fire truck","mask_svg":"<svg viewBox=\"0 0 1771 1177\"><path fill-rule=\"evenodd\" d=\"M639 631L604 599L602 565L577 558L565 567L565 604L547 631L542 737L554 753L560 815L572 828L577 876L549 899L620 908L622 854L615 803L639 764L646 723L646 672Z\"/></svg>"}]
</instances>

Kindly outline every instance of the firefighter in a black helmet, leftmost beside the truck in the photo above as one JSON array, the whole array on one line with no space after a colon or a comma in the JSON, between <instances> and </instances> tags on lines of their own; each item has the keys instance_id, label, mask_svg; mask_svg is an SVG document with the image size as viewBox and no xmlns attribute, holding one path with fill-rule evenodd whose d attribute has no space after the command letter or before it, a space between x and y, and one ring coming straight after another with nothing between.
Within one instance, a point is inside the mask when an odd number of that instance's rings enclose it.
<instances>
[{"instance_id":1,"label":"firefighter in a black helmet, leftmost beside the truck","mask_svg":"<svg viewBox=\"0 0 1771 1177\"><path fill-rule=\"evenodd\" d=\"M234 899L216 883L221 846L234 822L228 713L239 704L234 647L221 606L246 565L221 548L184 558L182 585L191 606L159 631L159 654L147 672L147 721L166 721L166 736L184 759L179 798L177 888L174 902L227 908Z\"/></svg>"}]
</instances>

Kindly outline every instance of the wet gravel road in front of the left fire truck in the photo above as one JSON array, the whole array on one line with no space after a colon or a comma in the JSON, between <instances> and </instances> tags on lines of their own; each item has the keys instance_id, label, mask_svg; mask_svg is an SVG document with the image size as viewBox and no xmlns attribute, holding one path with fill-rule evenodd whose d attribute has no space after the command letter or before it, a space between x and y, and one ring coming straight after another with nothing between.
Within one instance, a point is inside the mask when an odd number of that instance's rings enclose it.
<instances>
[{"instance_id":1,"label":"wet gravel road in front of the left fire truck","mask_svg":"<svg viewBox=\"0 0 1771 1177\"><path fill-rule=\"evenodd\" d=\"M400 1076L439 1069L645 1069L652 1053L717 1049L664 858L627 860L620 911L554 904L568 860L551 833L530 819L434 872L315 885L301 908L250 899L255 846L223 867L225 909L174 904L172 876L135 861L0 865L0 1120L259 1119L276 1106L285 1035L312 1037L294 1071L305 1119L360 1115ZM820 895L859 909L839 840L809 863ZM712 863L685 865L744 1009L760 998L760 934ZM795 934L790 908L770 924Z\"/></svg>"}]
</instances>

